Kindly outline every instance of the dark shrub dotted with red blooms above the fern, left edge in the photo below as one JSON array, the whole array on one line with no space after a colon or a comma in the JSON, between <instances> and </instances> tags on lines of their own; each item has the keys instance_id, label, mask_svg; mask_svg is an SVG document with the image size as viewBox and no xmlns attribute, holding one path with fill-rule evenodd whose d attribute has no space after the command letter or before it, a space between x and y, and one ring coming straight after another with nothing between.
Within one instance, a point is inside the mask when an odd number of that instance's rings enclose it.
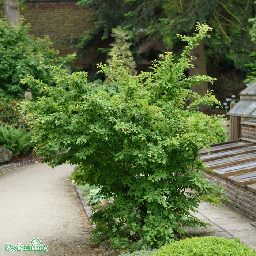
<instances>
[{"instance_id":1,"label":"dark shrub dotted with red blooms above the fern, left edge","mask_svg":"<svg viewBox=\"0 0 256 256\"><path fill-rule=\"evenodd\" d=\"M12 126L15 128L30 128L26 124L26 120L22 117L24 113L21 114L18 111L18 103L21 102L18 99L12 99L6 95L1 95L0 97L0 124Z\"/></svg>"}]
</instances>

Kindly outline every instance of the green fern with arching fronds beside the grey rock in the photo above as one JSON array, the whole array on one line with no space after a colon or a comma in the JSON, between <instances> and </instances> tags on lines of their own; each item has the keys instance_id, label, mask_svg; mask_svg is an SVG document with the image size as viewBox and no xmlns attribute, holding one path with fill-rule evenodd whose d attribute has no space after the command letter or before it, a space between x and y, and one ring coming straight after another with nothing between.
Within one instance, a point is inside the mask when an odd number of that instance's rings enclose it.
<instances>
[{"instance_id":1,"label":"green fern with arching fronds beside the grey rock","mask_svg":"<svg viewBox=\"0 0 256 256\"><path fill-rule=\"evenodd\" d=\"M25 128L15 129L0 125L0 145L10 149L13 155L31 153L34 143L31 142L32 133Z\"/></svg>"}]
</instances>

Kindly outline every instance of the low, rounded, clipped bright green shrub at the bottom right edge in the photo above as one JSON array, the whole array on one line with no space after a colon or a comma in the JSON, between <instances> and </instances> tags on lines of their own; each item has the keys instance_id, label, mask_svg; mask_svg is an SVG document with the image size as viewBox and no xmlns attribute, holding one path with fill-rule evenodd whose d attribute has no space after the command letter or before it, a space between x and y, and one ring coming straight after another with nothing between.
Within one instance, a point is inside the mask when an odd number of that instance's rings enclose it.
<instances>
[{"instance_id":1,"label":"low, rounded, clipped bright green shrub at the bottom right edge","mask_svg":"<svg viewBox=\"0 0 256 256\"><path fill-rule=\"evenodd\" d=\"M171 242L161 247L153 256L256 256L254 249L237 239L224 237L193 237Z\"/></svg>"}]
</instances>

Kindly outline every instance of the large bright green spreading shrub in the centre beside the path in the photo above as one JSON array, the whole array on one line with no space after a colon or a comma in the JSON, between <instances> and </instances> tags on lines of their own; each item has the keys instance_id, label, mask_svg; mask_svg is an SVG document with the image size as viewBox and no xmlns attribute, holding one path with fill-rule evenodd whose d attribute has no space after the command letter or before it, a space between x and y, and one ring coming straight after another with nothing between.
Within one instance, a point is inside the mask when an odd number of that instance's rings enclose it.
<instances>
[{"instance_id":1,"label":"large bright green spreading shrub in the centre beside the path","mask_svg":"<svg viewBox=\"0 0 256 256\"><path fill-rule=\"evenodd\" d=\"M97 185L114 202L95 211L92 240L103 239L113 248L159 247L178 240L182 226L206 226L191 214L202 201L218 204L223 188L204 178L199 149L217 142L220 118L197 112L202 104L219 105L209 90L200 96L189 88L208 76L187 77L193 47L210 27L198 25L177 63L172 53L154 61L152 71L132 76L114 55L99 72L114 77L120 93L110 96L87 84L87 74L69 74L49 67L56 86L32 76L45 96L24 102L22 112L33 129L37 154L54 167L65 162L80 165L71 178L80 185ZM192 99L190 105L187 99ZM47 145L64 151L53 155Z\"/></svg>"}]
</instances>

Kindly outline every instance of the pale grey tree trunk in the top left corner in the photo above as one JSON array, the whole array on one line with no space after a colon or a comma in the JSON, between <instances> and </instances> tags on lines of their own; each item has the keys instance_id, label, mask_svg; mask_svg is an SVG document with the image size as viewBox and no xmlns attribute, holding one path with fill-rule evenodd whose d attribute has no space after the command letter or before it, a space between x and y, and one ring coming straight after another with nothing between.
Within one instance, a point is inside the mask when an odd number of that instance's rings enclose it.
<instances>
[{"instance_id":1,"label":"pale grey tree trunk in the top left corner","mask_svg":"<svg viewBox=\"0 0 256 256\"><path fill-rule=\"evenodd\" d=\"M18 0L2 0L4 15L8 22L12 22L14 25L20 23L20 12Z\"/></svg>"}]
</instances>

